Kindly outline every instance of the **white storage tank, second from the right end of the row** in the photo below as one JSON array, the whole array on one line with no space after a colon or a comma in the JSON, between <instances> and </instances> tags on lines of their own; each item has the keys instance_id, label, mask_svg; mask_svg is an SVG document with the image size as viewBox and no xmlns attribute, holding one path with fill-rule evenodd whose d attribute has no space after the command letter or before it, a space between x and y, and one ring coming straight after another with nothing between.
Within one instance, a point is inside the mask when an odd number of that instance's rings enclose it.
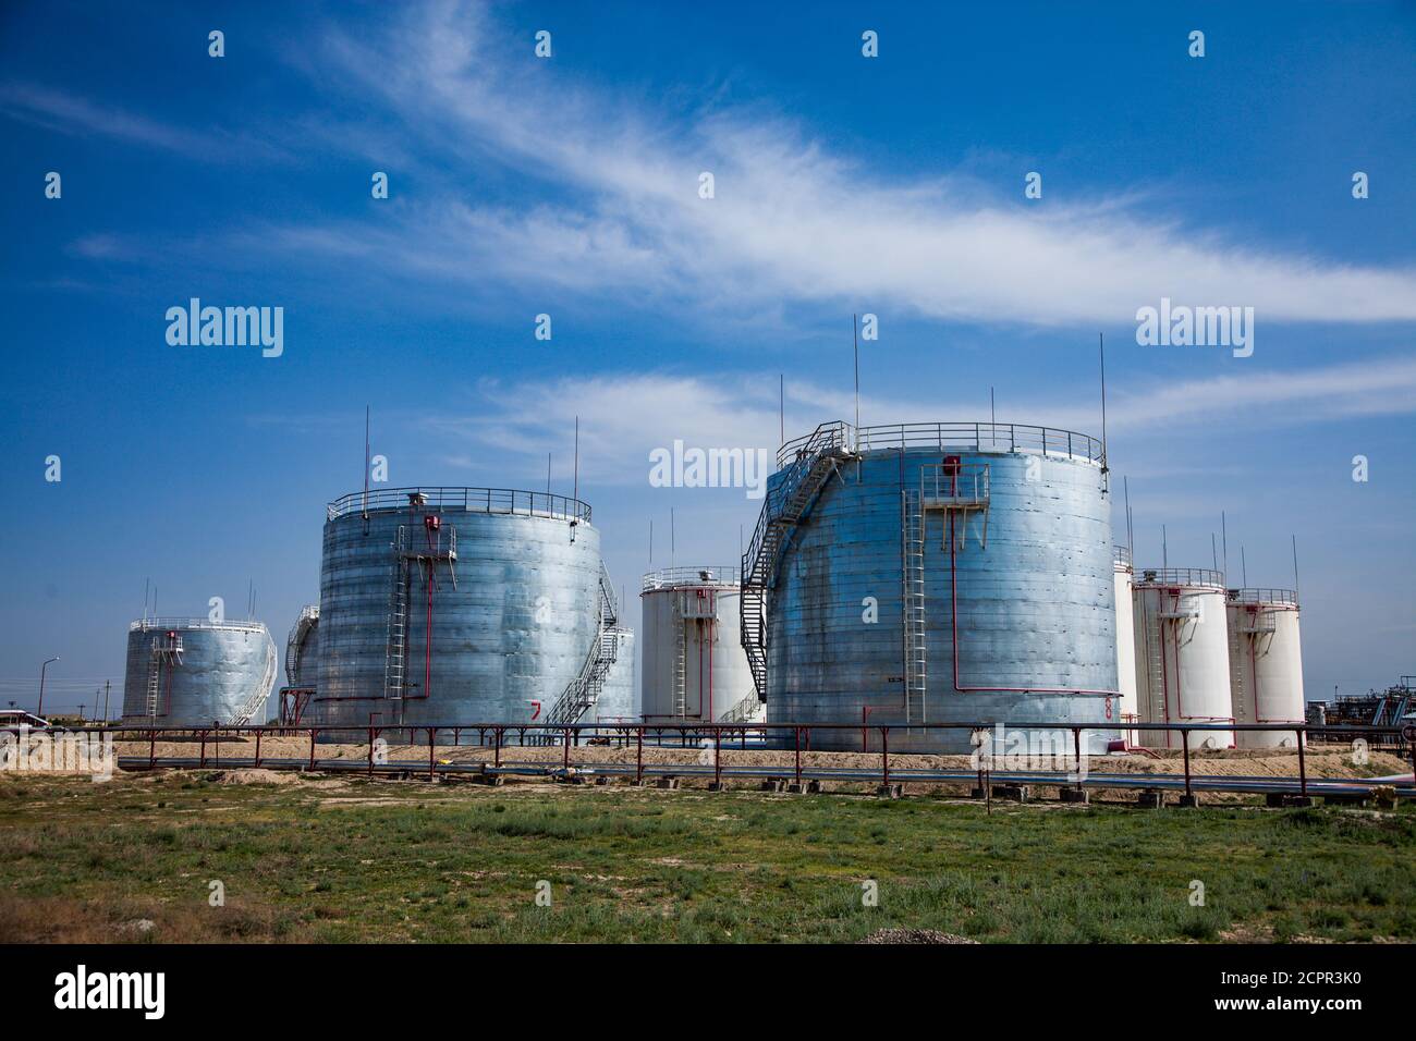
<instances>
[{"instance_id":1,"label":"white storage tank, second from the right end of the row","mask_svg":"<svg viewBox=\"0 0 1416 1041\"><path fill-rule=\"evenodd\" d=\"M1146 568L1136 576L1136 695L1143 722L1233 722L1225 576L1205 568ZM1232 748L1233 731L1191 731L1189 746ZM1180 748L1178 731L1141 729L1150 748Z\"/></svg>"}]
</instances>

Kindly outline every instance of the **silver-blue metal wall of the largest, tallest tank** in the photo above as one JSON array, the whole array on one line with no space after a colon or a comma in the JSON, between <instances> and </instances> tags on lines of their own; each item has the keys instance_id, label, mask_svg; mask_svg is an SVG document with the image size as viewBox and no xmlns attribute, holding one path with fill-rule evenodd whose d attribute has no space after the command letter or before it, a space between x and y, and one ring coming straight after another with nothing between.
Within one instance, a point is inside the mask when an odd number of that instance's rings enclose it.
<instances>
[{"instance_id":1,"label":"silver-blue metal wall of the largest, tallest tank","mask_svg":"<svg viewBox=\"0 0 1416 1041\"><path fill-rule=\"evenodd\" d=\"M1008 445L1012 428L995 429ZM862 445L867 436L877 445L885 439L861 431ZM843 465L796 527L769 598L767 721L860 724L868 710L871 724L905 722L902 491L920 486L920 467L957 456L963 467L988 466L987 548L978 544L981 516L973 513L967 544L960 537L954 555L963 688L956 690L947 520L925 514L923 718L1095 724L1102 729L1089 736L1090 748L1104 748L1119 732L1104 728L1119 722L1120 705L1110 507L1099 455L977 442L954 448L947 433L942 440L864 450L860 462ZM877 622L865 620L867 598L877 605ZM919 711L910 718L919 719ZM869 741L875 748L879 738ZM821 731L811 746L858 749L861 732ZM967 751L970 742L967 731L892 731L889 746Z\"/></svg>"}]
</instances>

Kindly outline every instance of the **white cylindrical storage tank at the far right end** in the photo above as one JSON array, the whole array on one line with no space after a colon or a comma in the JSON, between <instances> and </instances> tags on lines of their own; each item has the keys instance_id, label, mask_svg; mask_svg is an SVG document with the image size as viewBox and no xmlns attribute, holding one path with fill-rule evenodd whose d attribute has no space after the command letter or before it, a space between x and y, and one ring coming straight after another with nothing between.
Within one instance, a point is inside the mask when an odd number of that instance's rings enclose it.
<instances>
[{"instance_id":1,"label":"white cylindrical storage tank at the far right end","mask_svg":"<svg viewBox=\"0 0 1416 1041\"><path fill-rule=\"evenodd\" d=\"M1298 593L1231 589L1229 688L1235 722L1304 722ZM1236 731L1239 748L1294 748L1297 734Z\"/></svg>"}]
</instances>

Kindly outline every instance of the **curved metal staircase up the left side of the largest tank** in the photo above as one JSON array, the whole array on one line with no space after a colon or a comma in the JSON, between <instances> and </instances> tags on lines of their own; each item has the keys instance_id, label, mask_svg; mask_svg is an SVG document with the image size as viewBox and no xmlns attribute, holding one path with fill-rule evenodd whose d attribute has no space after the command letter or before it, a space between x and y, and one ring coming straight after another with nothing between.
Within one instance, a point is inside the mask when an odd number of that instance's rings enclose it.
<instances>
[{"instance_id":1,"label":"curved metal staircase up the left side of the largest tank","mask_svg":"<svg viewBox=\"0 0 1416 1041\"><path fill-rule=\"evenodd\" d=\"M782 552L831 474L840 472L840 463L855 457L855 428L841 422L821 423L797 449L796 457L782 472L782 480L762 504L752 542L742 557L739 601L742 647L748 653L759 698L767 687L766 602L769 591L776 586Z\"/></svg>"}]
</instances>

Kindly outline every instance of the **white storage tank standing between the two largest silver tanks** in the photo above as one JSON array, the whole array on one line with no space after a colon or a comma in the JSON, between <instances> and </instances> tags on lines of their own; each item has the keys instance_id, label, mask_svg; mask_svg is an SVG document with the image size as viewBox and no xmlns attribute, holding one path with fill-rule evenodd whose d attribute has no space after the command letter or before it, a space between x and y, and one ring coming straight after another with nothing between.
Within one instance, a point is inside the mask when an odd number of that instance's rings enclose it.
<instances>
[{"instance_id":1,"label":"white storage tank standing between the two largest silver tanks","mask_svg":"<svg viewBox=\"0 0 1416 1041\"><path fill-rule=\"evenodd\" d=\"M760 714L739 639L741 598L736 568L666 568L644 575L644 722L743 722Z\"/></svg>"}]
</instances>

